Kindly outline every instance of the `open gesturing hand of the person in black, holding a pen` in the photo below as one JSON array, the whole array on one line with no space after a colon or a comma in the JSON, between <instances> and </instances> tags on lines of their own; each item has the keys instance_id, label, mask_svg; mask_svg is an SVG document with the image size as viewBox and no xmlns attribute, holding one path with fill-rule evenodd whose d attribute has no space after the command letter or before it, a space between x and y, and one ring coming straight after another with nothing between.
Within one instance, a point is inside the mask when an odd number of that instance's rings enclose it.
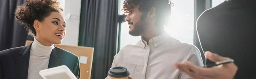
<instances>
[{"instance_id":1,"label":"open gesturing hand of the person in black, holding a pen","mask_svg":"<svg viewBox=\"0 0 256 79\"><path fill-rule=\"evenodd\" d=\"M212 62L219 62L227 60L230 58L219 56L218 54L213 54L209 51L206 52L207 59ZM202 68L195 66L191 62L175 63L177 69L186 73L193 79L233 79L237 66L232 62L224 65L214 66L212 68Z\"/></svg>"}]
</instances>

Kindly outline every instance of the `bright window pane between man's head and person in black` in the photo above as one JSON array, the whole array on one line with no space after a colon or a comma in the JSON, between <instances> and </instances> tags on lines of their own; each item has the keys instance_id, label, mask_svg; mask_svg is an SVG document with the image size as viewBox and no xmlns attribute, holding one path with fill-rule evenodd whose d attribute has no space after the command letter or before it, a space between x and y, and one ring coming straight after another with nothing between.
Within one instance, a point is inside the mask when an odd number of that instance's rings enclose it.
<instances>
[{"instance_id":1,"label":"bright window pane between man's head and person in black","mask_svg":"<svg viewBox=\"0 0 256 79\"><path fill-rule=\"evenodd\" d=\"M170 26L166 31L180 42L193 45L194 41L194 0L171 0L174 6Z\"/></svg>"}]
</instances>

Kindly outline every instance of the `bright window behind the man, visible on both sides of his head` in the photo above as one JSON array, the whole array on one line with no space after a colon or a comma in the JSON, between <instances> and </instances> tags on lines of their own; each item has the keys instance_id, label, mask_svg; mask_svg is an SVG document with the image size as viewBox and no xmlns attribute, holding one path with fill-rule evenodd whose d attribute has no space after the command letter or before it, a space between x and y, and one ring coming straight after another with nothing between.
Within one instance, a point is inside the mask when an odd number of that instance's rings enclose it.
<instances>
[{"instance_id":1,"label":"bright window behind the man, visible on both sides of his head","mask_svg":"<svg viewBox=\"0 0 256 79\"><path fill-rule=\"evenodd\" d=\"M171 0L174 3L170 18L171 26L165 30L177 40L193 44L194 41L194 0ZM131 36L128 31L128 22L124 21L125 16L121 11L123 0L119 0L119 42L118 51L128 44L136 44L140 37ZM129 40L128 40L129 39Z\"/></svg>"}]
</instances>

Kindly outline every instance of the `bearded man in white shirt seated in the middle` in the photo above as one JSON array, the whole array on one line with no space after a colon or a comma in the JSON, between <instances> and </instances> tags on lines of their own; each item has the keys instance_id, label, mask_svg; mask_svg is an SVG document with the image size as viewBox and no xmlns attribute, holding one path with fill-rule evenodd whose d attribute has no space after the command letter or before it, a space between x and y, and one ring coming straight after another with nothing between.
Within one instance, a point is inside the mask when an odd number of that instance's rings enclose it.
<instances>
[{"instance_id":1,"label":"bearded man in white shirt seated in the middle","mask_svg":"<svg viewBox=\"0 0 256 79\"><path fill-rule=\"evenodd\" d=\"M135 45L126 45L116 56L112 67L128 69L132 79L189 79L175 69L175 62L189 61L203 66L200 51L194 45L181 43L164 29L171 14L169 0L125 0L122 10L129 34L141 36ZM108 77L106 78L108 79Z\"/></svg>"}]
</instances>

